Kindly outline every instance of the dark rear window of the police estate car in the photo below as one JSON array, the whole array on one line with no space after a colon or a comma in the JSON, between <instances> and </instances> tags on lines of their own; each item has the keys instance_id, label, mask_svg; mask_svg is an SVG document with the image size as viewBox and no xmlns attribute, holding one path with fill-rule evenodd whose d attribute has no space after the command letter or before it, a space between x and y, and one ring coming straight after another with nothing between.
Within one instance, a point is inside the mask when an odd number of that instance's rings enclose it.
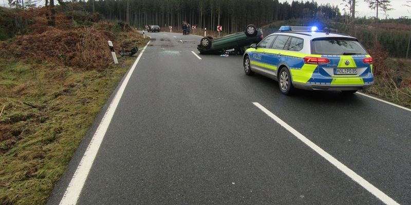
<instances>
[{"instance_id":1,"label":"dark rear window of the police estate car","mask_svg":"<svg viewBox=\"0 0 411 205\"><path fill-rule=\"evenodd\" d=\"M317 38L312 40L311 53L320 55L365 55L367 51L354 39Z\"/></svg>"}]
</instances>

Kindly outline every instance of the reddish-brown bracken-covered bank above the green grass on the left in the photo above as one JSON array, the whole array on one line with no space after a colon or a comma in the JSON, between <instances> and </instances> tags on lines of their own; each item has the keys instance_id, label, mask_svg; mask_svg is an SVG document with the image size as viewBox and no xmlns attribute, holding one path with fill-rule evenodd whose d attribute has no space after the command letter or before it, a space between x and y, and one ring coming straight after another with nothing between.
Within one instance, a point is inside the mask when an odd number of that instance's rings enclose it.
<instances>
[{"instance_id":1,"label":"reddish-brown bracken-covered bank above the green grass on the left","mask_svg":"<svg viewBox=\"0 0 411 205\"><path fill-rule=\"evenodd\" d=\"M130 40L135 44L133 46L143 43L140 35L127 24L101 22L96 16L76 16L83 18L76 20L72 19L72 12L56 14L54 27L47 26L46 9L22 11L15 16L22 19L22 24L29 24L28 32L0 43L0 46L6 55L18 59L46 60L85 70L104 69L113 61L107 52L108 40L113 42L116 50L131 46Z\"/></svg>"}]
</instances>

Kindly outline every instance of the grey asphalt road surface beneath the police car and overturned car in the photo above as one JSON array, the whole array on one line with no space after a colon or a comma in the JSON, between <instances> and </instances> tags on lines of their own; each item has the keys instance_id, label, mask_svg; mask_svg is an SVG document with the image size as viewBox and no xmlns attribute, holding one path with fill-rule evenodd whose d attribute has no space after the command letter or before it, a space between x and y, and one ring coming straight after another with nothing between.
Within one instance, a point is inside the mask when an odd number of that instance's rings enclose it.
<instances>
[{"instance_id":1,"label":"grey asphalt road surface beneath the police car and overturned car","mask_svg":"<svg viewBox=\"0 0 411 205\"><path fill-rule=\"evenodd\" d=\"M198 36L150 33L77 204L384 204L266 113L400 204L411 204L411 112L247 76ZM110 100L113 99L110 98ZM109 100L109 101L110 101ZM59 204L105 109L48 204Z\"/></svg>"}]
</instances>

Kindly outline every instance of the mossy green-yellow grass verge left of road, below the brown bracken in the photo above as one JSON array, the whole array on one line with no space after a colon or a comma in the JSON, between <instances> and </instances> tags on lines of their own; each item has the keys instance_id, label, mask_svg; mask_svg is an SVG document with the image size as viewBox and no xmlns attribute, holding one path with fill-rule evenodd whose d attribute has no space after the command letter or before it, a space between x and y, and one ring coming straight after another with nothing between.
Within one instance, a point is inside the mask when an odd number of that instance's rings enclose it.
<instances>
[{"instance_id":1,"label":"mossy green-yellow grass verge left of road, below the brown bracken","mask_svg":"<svg viewBox=\"0 0 411 205\"><path fill-rule=\"evenodd\" d=\"M0 204L43 204L135 58L102 70L0 59Z\"/></svg>"}]
</instances>

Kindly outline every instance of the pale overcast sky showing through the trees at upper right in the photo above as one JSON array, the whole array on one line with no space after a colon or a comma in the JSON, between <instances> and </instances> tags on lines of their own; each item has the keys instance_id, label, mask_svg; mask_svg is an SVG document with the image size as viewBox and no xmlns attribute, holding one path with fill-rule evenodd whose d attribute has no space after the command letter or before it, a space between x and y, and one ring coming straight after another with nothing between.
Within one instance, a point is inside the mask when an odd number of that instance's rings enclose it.
<instances>
[{"instance_id":1,"label":"pale overcast sky showing through the trees at upper right","mask_svg":"<svg viewBox=\"0 0 411 205\"><path fill-rule=\"evenodd\" d=\"M299 0L301 1L301 0ZM306 2L306 0L303 0ZM388 11L387 15L389 18L399 18L401 16L410 16L411 17L411 7L405 7L403 6L406 3L407 0L391 0L391 8L393 8L392 11ZM291 4L292 0L279 0L279 2L288 2ZM342 9L344 8L342 0L317 0L314 1L317 2L317 4L327 4L330 3L331 5L337 5L338 8L341 10L341 14L344 12ZM411 5L411 4L408 4ZM356 7L356 16L357 17L362 17L362 16L375 16L376 11L371 10L368 8L367 4L364 2L364 0L357 0L357 7ZM385 18L385 15L383 12L378 14L380 18Z\"/></svg>"}]
</instances>

